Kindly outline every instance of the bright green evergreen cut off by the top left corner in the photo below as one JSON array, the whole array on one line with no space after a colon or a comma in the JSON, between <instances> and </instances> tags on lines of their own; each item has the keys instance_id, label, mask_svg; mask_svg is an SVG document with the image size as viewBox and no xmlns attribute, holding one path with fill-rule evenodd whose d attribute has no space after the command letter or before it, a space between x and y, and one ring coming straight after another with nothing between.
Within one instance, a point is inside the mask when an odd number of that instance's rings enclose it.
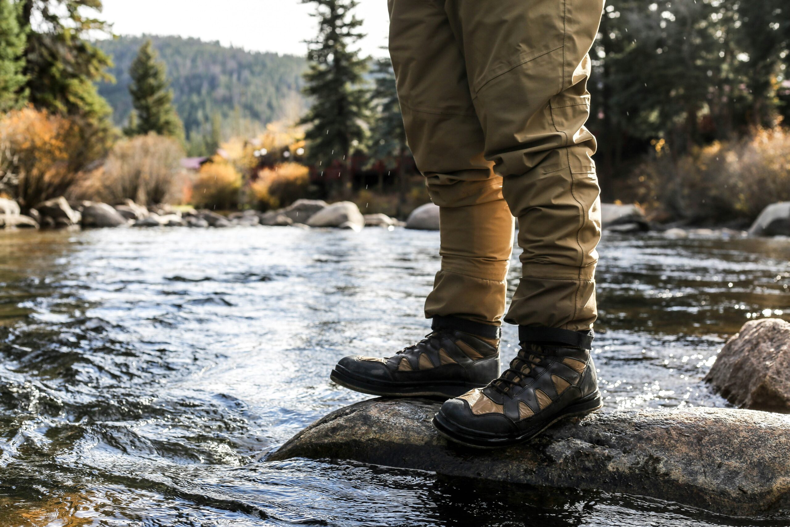
<instances>
[{"instance_id":1,"label":"bright green evergreen cut off by the top left corner","mask_svg":"<svg viewBox=\"0 0 790 527\"><path fill-rule=\"evenodd\" d=\"M0 111L18 107L27 100L24 84L25 35L17 20L17 6L0 0Z\"/></svg>"}]
</instances>

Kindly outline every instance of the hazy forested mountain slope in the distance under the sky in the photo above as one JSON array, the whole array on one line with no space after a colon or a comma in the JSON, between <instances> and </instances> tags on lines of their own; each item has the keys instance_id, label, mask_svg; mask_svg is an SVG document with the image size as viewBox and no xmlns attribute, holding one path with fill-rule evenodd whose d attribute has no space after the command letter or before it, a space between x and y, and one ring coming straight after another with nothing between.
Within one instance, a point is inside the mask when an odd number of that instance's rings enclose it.
<instances>
[{"instance_id":1,"label":"hazy forested mountain slope in the distance under the sky","mask_svg":"<svg viewBox=\"0 0 790 527\"><path fill-rule=\"evenodd\" d=\"M99 92L114 109L116 124L131 110L129 66L147 36L121 36L97 44L113 57L117 84L100 84ZM219 113L224 135L248 134L266 122L295 118L303 111L300 89L307 69L303 57L258 53L223 47L216 42L179 36L152 36L167 64L175 105L187 137L209 134Z\"/></svg>"}]
</instances>

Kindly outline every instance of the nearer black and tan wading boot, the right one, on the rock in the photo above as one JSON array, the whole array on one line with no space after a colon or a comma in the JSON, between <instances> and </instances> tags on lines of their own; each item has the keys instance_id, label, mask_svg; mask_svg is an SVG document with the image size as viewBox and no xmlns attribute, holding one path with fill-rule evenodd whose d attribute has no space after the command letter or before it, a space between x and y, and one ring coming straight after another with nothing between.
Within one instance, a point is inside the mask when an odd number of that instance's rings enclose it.
<instances>
[{"instance_id":1,"label":"nearer black and tan wading boot, the right one, on the rock","mask_svg":"<svg viewBox=\"0 0 790 527\"><path fill-rule=\"evenodd\" d=\"M434 427L477 448L528 441L565 417L601 407L592 363L592 331L519 327L521 351L482 390L445 401Z\"/></svg>"}]
</instances>

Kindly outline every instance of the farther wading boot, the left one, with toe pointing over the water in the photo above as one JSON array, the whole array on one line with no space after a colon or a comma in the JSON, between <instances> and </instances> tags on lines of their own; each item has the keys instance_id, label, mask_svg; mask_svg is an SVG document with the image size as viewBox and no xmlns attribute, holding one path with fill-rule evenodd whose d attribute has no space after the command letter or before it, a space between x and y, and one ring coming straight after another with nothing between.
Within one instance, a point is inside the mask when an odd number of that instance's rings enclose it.
<instances>
[{"instance_id":1,"label":"farther wading boot, the left one, with toe pointing over the water","mask_svg":"<svg viewBox=\"0 0 790 527\"><path fill-rule=\"evenodd\" d=\"M457 397L499 374L499 328L463 318L433 318L431 333L388 359L348 356L329 377L351 390L386 397Z\"/></svg>"}]
</instances>

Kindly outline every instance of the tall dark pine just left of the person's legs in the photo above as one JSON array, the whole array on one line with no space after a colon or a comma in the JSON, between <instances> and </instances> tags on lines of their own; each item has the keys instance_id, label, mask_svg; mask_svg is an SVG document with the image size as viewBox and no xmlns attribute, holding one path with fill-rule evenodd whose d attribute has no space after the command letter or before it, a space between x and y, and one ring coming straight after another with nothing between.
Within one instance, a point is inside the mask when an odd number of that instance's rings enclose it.
<instances>
[{"instance_id":1,"label":"tall dark pine just left of the person's legs","mask_svg":"<svg viewBox=\"0 0 790 527\"><path fill-rule=\"evenodd\" d=\"M301 124L310 128L305 134L310 160L327 167L340 164L340 194L351 190L348 161L352 148L364 141L365 122L369 118L369 97L364 88L363 74L367 58L360 58L352 49L364 35L362 25L352 10L356 0L302 0L314 3L318 18L318 36L308 41L307 59L310 70L305 73L304 92L312 98L312 106Z\"/></svg>"}]
</instances>

